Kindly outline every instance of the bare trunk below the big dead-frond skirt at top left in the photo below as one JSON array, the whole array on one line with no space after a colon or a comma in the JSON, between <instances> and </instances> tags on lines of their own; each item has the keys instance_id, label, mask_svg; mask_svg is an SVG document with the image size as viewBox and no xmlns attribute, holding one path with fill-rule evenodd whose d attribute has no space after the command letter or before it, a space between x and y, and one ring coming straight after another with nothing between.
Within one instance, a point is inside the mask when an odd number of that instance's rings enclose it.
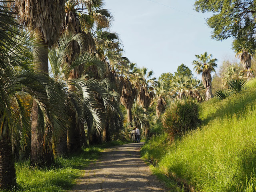
<instances>
[{"instance_id":1,"label":"bare trunk below the big dead-frond skirt at top left","mask_svg":"<svg viewBox=\"0 0 256 192\"><path fill-rule=\"evenodd\" d=\"M40 30L35 30L38 36L43 36ZM34 54L35 67L39 72L48 76L48 43L40 40L41 46L38 47L38 54ZM38 123L38 104L33 100L31 122L31 154L30 166L49 166L54 163L52 146L48 149L43 146L44 125ZM50 130L51 131L51 130Z\"/></svg>"}]
</instances>

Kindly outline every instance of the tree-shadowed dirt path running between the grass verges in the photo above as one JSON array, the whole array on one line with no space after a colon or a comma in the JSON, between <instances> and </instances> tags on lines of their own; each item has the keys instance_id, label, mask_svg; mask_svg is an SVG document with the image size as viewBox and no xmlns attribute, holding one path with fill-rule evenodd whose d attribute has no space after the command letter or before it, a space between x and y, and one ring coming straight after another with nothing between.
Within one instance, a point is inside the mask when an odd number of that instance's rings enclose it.
<instances>
[{"instance_id":1,"label":"tree-shadowed dirt path running between the grass verges","mask_svg":"<svg viewBox=\"0 0 256 192\"><path fill-rule=\"evenodd\" d=\"M104 150L102 160L85 169L72 192L167 192L140 159L143 143Z\"/></svg>"}]
</instances>

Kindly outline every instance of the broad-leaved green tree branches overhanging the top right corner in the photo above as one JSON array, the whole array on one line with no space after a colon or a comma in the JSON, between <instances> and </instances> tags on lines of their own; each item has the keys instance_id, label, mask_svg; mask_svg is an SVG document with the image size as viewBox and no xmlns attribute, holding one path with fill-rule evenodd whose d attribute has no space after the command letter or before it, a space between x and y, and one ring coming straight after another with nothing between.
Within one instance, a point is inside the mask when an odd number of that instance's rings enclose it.
<instances>
[{"instance_id":1,"label":"broad-leaved green tree branches overhanging the top right corner","mask_svg":"<svg viewBox=\"0 0 256 192\"><path fill-rule=\"evenodd\" d=\"M233 48L237 51L256 49L256 2L254 0L196 0L195 10L213 12L207 23L213 29L212 38L223 40L234 38Z\"/></svg>"}]
</instances>

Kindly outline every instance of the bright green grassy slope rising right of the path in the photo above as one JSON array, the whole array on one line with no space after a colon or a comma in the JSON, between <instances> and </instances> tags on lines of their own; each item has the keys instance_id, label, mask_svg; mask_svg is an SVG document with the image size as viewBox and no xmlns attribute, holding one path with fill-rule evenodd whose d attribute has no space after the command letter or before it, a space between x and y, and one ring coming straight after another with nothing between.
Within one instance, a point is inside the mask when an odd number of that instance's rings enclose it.
<instances>
[{"instance_id":1,"label":"bright green grassy slope rising right of the path","mask_svg":"<svg viewBox=\"0 0 256 192\"><path fill-rule=\"evenodd\" d=\"M153 138L142 148L144 158L158 160L162 173L175 173L196 190L256 191L256 80L247 86L202 103L201 127L169 146L162 145L167 136Z\"/></svg>"}]
</instances>

